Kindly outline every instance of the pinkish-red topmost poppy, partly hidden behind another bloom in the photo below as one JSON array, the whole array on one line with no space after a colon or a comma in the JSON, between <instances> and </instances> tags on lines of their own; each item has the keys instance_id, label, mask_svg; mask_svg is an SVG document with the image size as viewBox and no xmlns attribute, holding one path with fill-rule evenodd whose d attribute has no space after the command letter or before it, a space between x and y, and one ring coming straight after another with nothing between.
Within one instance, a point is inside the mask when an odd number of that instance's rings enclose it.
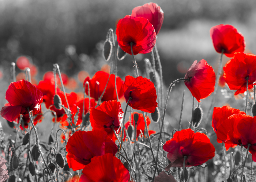
<instances>
[{"instance_id":1,"label":"pinkish-red topmost poppy, partly hidden behind another bloom","mask_svg":"<svg viewBox=\"0 0 256 182\"><path fill-rule=\"evenodd\" d=\"M163 24L163 10L157 3L147 3L143 6L133 8L131 16L144 17L155 28L156 35Z\"/></svg>"}]
</instances>

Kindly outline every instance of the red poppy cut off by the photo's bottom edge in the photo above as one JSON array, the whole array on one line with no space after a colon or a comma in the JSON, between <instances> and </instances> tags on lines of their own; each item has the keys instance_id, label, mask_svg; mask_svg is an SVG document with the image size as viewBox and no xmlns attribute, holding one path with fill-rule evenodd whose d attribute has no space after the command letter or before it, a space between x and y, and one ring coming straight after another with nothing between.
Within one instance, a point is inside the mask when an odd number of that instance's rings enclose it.
<instances>
[{"instance_id":1,"label":"red poppy cut off by the photo's bottom edge","mask_svg":"<svg viewBox=\"0 0 256 182\"><path fill-rule=\"evenodd\" d=\"M82 173L80 182L128 182L129 180L129 171L120 159L111 154L92 158L91 163L84 167Z\"/></svg>"}]
</instances>

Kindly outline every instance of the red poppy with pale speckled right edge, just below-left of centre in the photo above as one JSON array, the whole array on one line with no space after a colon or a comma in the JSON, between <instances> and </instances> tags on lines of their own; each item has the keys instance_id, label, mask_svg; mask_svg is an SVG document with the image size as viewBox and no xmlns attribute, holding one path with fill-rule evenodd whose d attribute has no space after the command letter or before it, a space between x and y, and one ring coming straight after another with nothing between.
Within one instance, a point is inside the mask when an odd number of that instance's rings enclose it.
<instances>
[{"instance_id":1,"label":"red poppy with pale speckled right edge, just below-left of centre","mask_svg":"<svg viewBox=\"0 0 256 182\"><path fill-rule=\"evenodd\" d=\"M104 101L97 108L90 108L90 122L93 130L104 130L108 136L116 141L114 130L118 133L124 112L121 109L121 103L117 100Z\"/></svg>"}]
</instances>

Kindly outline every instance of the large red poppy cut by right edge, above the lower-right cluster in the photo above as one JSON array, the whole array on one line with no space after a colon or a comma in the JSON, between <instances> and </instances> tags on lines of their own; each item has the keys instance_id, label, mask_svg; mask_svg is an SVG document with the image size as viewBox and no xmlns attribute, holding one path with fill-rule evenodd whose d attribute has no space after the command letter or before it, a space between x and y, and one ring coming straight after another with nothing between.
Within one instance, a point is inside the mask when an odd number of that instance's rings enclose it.
<instances>
[{"instance_id":1,"label":"large red poppy cut by right edge, above the lower-right cluster","mask_svg":"<svg viewBox=\"0 0 256 182\"><path fill-rule=\"evenodd\" d=\"M230 90L237 90L235 95L246 91L246 78L248 90L256 83L256 55L236 52L223 67L224 79Z\"/></svg>"}]
</instances>

